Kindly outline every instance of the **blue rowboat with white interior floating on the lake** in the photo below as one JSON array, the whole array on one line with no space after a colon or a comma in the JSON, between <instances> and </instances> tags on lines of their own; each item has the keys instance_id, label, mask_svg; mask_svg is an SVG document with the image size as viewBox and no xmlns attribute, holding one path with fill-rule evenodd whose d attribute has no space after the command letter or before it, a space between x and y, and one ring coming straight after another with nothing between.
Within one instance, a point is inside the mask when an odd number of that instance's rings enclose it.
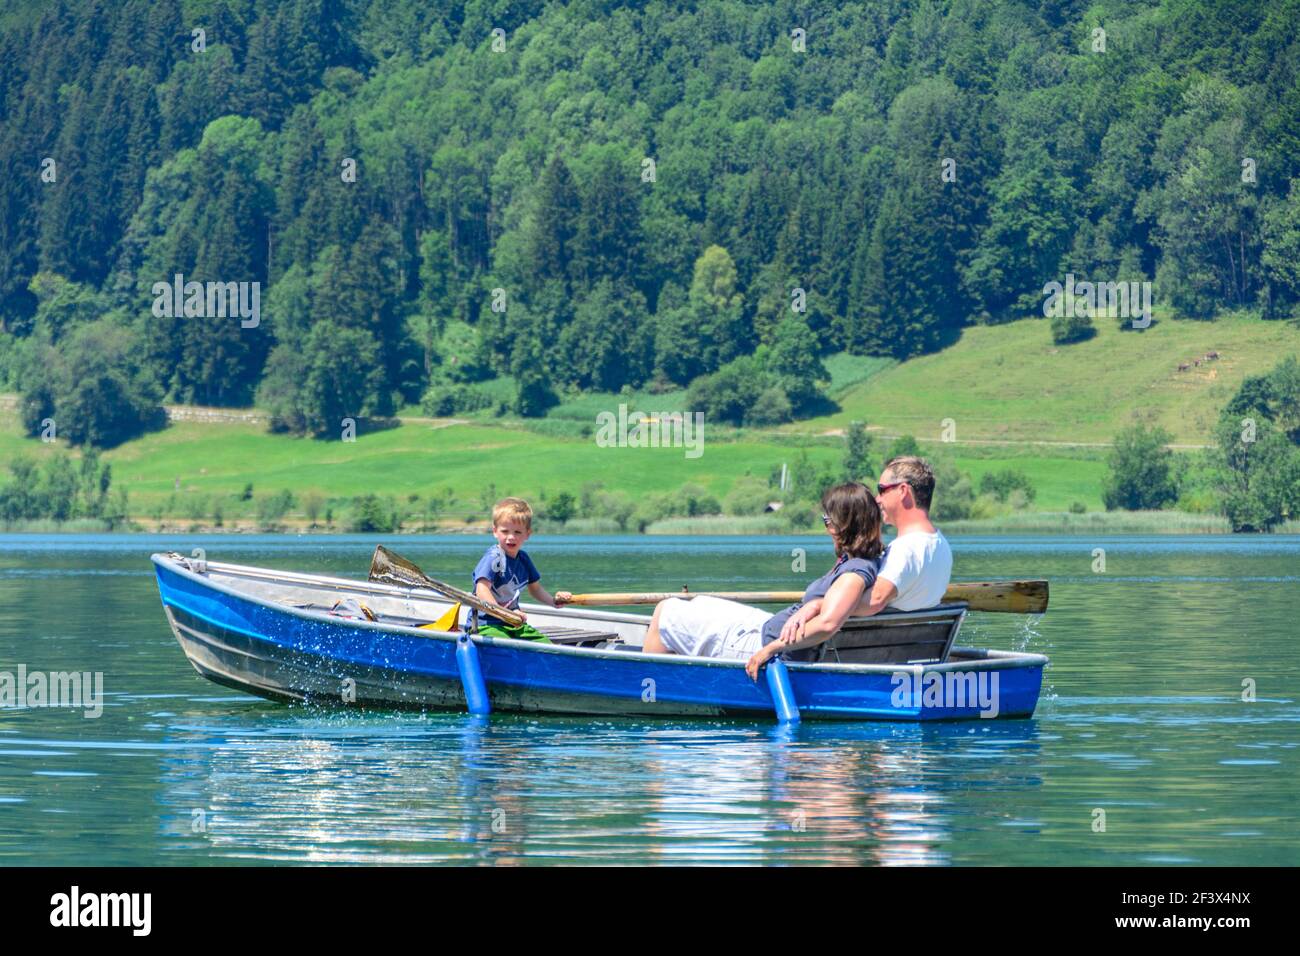
<instances>
[{"instance_id":1,"label":"blue rowboat with white interior floating on the lake","mask_svg":"<svg viewBox=\"0 0 1300 956\"><path fill-rule=\"evenodd\" d=\"M430 630L451 605L428 591L176 553L152 561L168 623L195 670L282 701L785 721L1024 718L1048 663L954 646L966 606L945 605L853 619L816 662L774 659L755 683L742 661L644 653L645 615L524 605L552 640L538 644Z\"/></svg>"}]
</instances>

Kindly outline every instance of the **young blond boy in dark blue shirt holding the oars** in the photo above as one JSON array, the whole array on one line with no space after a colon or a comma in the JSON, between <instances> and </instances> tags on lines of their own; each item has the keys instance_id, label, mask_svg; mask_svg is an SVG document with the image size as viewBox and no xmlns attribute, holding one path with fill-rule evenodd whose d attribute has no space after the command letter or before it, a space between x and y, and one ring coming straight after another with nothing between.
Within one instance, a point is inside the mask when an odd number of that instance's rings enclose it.
<instances>
[{"instance_id":1,"label":"young blond boy in dark blue shirt holding the oars","mask_svg":"<svg viewBox=\"0 0 1300 956\"><path fill-rule=\"evenodd\" d=\"M555 597L546 593L537 574L537 567L520 550L524 542L533 533L533 509L523 498L502 498L491 510L491 533L497 544L488 549L488 553L478 559L474 567L474 596L489 605L504 607L515 611L519 617L525 617L519 610L519 593L526 587L528 593L538 604L562 607L573 597L567 591L555 592ZM478 622L478 633L495 637L514 637L525 641L543 641L546 635L532 624L523 623L511 627L504 620L485 614Z\"/></svg>"}]
</instances>

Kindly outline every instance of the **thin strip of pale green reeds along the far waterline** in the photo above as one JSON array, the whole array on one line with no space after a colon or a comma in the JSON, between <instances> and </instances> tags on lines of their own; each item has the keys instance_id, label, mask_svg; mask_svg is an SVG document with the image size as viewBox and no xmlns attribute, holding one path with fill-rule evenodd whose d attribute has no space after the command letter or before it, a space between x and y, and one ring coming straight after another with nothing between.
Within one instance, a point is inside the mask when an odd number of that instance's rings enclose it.
<instances>
[{"instance_id":1,"label":"thin strip of pale green reeds along the far waterline","mask_svg":"<svg viewBox=\"0 0 1300 956\"><path fill-rule=\"evenodd\" d=\"M621 529L611 518L573 518L563 524L537 520L534 532L542 536L577 535L699 535L699 536L800 536L818 535L820 525L792 528L777 514L771 515L697 515L694 518L666 518L649 524L644 532ZM1222 515L1193 514L1188 511L1028 511L1000 518L941 522L940 529L950 536L962 535L1231 535L1228 520ZM311 524L306 519L286 519L274 528L256 520L235 520L221 527L196 523L183 518L164 518L161 522L140 518L116 523L101 519L78 518L66 522L48 519L0 522L0 535L486 535L484 523L456 520L419 524L387 532L358 532L338 524ZM1300 520L1279 524L1274 535L1300 535Z\"/></svg>"}]
</instances>

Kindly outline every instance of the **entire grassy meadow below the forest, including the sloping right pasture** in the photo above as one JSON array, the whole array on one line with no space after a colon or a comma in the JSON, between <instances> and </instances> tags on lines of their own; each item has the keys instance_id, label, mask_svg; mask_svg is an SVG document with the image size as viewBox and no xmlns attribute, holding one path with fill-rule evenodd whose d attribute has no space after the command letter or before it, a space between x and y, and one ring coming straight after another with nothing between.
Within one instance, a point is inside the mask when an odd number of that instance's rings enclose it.
<instances>
[{"instance_id":1,"label":"entire grassy meadow below the forest, including the sloping right pasture","mask_svg":"<svg viewBox=\"0 0 1300 956\"><path fill-rule=\"evenodd\" d=\"M801 447L815 462L837 463L842 446L836 429L864 420L876 436L876 460L890 436L910 433L928 454L968 473L976 488L987 472L1023 471L1037 490L1035 512L1078 505L1100 511L1105 442L1135 412L1153 416L1178 442L1202 444L1218 408L1247 375L1300 351L1294 324L1245 316L1157 321L1143 333L1121 332L1109 320L1096 325L1093 339L1063 347L1050 343L1046 323L1023 320L967 329L953 347L905 363L832 355L827 368L840 412L777 429L707 428L698 458L686 458L684 449L598 447L582 436L598 412L615 411L620 402L647 412L685 410L686 393L677 390L585 395L540 421L408 420L385 431L363 428L355 442L274 436L252 424L182 421L113 449L105 459L114 486L127 490L131 514L140 516L160 510L198 515L202 509L194 506L204 496L233 501L251 484L257 498L287 489L299 501L316 493L335 506L368 493L433 496L446 502L445 514L468 519L494 497L576 493L589 481L633 497L694 483L722 498L745 475L767 479L793 463ZM1179 362L1210 350L1222 359L1176 371ZM946 418L956 421L956 442L939 441ZM62 442L25 437L16 415L0 418L0 468L20 453L42 458L57 447ZM244 512L251 507L226 509L230 518Z\"/></svg>"}]
</instances>

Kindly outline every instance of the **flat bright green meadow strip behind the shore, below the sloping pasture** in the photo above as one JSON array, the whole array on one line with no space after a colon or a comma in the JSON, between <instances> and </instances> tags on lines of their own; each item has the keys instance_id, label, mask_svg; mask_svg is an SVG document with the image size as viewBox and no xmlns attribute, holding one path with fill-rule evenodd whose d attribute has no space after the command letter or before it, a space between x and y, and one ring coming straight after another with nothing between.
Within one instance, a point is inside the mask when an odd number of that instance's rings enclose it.
<instances>
[{"instance_id":1,"label":"flat bright green meadow strip behind the shore, below the sloping pasture","mask_svg":"<svg viewBox=\"0 0 1300 956\"><path fill-rule=\"evenodd\" d=\"M16 454L53 453L55 445L25 438L17 423L0 427L0 464ZM838 462L837 442L807 446L815 462ZM876 457L884 453L876 449ZM944 446L954 463L978 481L985 471L1015 467L1037 488L1035 507L1066 510L1074 502L1101 506L1101 451L1071 455L1028 454L1027 449ZM302 497L316 492L326 499L352 496L437 494L456 507L482 507L499 494L538 497L577 489L588 481L641 496L670 492L685 483L703 485L718 497L746 473L766 479L794 460L788 436L762 440L710 441L703 454L684 449L598 447L592 438L554 438L521 428L491 424L403 424L365 433L355 442L313 441L269 434L259 425L174 423L161 432L107 451L113 484L130 494L131 511L151 514L176 499L168 511L185 511L192 496L233 496L246 484L259 497L289 489ZM997 455L997 457L992 457Z\"/></svg>"}]
</instances>

